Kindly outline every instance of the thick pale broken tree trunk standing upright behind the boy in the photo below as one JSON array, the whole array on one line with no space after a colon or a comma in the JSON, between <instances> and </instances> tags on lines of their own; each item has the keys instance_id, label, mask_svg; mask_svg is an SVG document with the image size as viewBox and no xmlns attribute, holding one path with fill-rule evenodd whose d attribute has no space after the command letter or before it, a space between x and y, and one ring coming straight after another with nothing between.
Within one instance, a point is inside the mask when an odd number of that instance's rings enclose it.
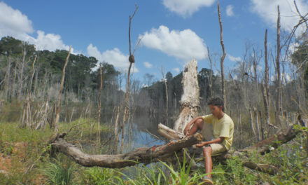
<instances>
[{"instance_id":1,"label":"thick pale broken tree trunk standing upright behind the boy","mask_svg":"<svg viewBox=\"0 0 308 185\"><path fill-rule=\"evenodd\" d=\"M183 133L185 126L195 117L200 107L200 92L197 78L197 60L193 59L186 65L182 79L183 95L181 97L181 111L174 123L174 130Z\"/></svg>"}]
</instances>

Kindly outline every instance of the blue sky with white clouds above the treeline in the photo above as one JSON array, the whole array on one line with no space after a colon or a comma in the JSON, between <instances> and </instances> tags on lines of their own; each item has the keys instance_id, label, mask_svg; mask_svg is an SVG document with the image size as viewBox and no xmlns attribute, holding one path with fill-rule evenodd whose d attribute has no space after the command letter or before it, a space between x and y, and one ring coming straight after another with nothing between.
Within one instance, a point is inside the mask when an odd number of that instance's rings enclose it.
<instances>
[{"instance_id":1,"label":"blue sky with white clouds above the treeline","mask_svg":"<svg viewBox=\"0 0 308 185\"><path fill-rule=\"evenodd\" d=\"M174 76L195 57L199 69L209 68L207 47L216 54L214 69L220 69L220 27L215 0L114 0L114 1L0 1L0 37L14 36L29 41L39 50L73 48L73 53L97 57L118 70L128 67L129 15L135 4L139 10L132 20L134 77L153 74L162 78ZM302 15L308 2L297 0ZM281 9L281 29L290 32L299 17L293 0L220 1L223 39L227 57L225 68L235 67L242 60L245 44L262 49L265 29L269 45L276 42L276 6Z\"/></svg>"}]
</instances>

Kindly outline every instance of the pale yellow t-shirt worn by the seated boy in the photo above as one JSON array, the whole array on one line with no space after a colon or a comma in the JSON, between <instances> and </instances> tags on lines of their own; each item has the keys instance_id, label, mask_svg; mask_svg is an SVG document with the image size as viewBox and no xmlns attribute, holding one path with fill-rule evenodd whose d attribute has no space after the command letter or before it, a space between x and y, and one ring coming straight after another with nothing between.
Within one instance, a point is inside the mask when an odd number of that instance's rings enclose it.
<instances>
[{"instance_id":1,"label":"pale yellow t-shirt worn by the seated boy","mask_svg":"<svg viewBox=\"0 0 308 185\"><path fill-rule=\"evenodd\" d=\"M207 115L207 116L202 116L204 121L207 123L213 124L213 135L214 139L218 137L225 137L223 139L223 146L228 150L230 149L230 146L232 145L232 140L233 140L233 128L234 128L234 123L230 116L227 114L223 114L223 118L219 119L213 116L212 114Z\"/></svg>"}]
</instances>

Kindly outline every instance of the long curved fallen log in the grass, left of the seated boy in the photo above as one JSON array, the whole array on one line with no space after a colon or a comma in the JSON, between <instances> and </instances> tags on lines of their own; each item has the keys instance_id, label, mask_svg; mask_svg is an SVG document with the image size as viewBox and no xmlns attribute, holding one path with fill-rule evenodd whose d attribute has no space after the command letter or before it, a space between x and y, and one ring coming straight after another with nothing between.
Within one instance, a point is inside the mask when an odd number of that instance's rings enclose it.
<instances>
[{"instance_id":1,"label":"long curved fallen log in the grass, left of the seated boy","mask_svg":"<svg viewBox=\"0 0 308 185\"><path fill-rule=\"evenodd\" d=\"M111 167L120 168L139 163L153 163L158 161L166 161L168 158L174 156L174 152L181 151L181 149L192 146L202 141L202 135L195 134L191 137L169 142L161 146L151 146L148 148L141 148L128 153L118 155L90 155L83 153L76 146L66 142L63 137L65 133L57 135L52 139L52 151L60 151L66 156L71 157L76 163L85 167Z\"/></svg>"}]
</instances>

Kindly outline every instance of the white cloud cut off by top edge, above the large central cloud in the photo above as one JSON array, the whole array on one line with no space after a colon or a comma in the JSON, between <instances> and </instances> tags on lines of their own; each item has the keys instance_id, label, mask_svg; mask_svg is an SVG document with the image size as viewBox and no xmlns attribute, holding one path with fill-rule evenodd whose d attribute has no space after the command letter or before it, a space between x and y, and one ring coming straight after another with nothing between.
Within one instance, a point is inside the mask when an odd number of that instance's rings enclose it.
<instances>
[{"instance_id":1,"label":"white cloud cut off by top edge, above the large central cloud","mask_svg":"<svg viewBox=\"0 0 308 185\"><path fill-rule=\"evenodd\" d=\"M162 4L169 9L169 11L178 13L186 17L193 15L196 11L204 6L211 6L215 0L163 0Z\"/></svg>"}]
</instances>

